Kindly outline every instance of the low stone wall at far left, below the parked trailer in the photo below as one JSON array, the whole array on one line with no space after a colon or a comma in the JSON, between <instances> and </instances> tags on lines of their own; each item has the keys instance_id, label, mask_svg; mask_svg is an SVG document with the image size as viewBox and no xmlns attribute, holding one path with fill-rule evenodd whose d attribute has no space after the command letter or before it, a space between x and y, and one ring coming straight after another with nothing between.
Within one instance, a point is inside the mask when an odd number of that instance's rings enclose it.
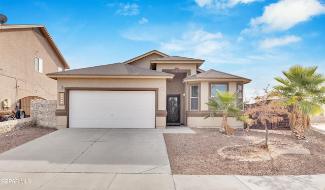
<instances>
[{"instance_id":1,"label":"low stone wall at far left, below the parked trailer","mask_svg":"<svg viewBox=\"0 0 325 190\"><path fill-rule=\"evenodd\" d=\"M0 133L6 133L8 131L14 131L35 126L36 121L32 118L23 118L19 120L0 122Z\"/></svg>"}]
</instances>

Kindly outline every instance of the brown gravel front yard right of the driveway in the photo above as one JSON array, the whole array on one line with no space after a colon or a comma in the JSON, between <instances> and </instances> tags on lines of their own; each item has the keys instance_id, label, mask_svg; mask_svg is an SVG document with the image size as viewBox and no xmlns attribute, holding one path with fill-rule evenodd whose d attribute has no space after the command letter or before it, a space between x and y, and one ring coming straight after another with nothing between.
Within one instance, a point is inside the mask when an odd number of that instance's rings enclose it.
<instances>
[{"instance_id":1,"label":"brown gravel front yard right of the driveway","mask_svg":"<svg viewBox=\"0 0 325 190\"><path fill-rule=\"evenodd\" d=\"M192 128L197 134L164 134L173 174L188 175L309 175L325 174L325 142L307 136L306 140L290 138L290 131L270 131L269 145L228 149L240 157L269 154L278 148L309 149L310 155L280 155L263 162L223 159L217 150L223 146L244 145L265 139L264 130L234 130L234 136L221 135L219 129ZM236 150L237 149L237 150ZM243 150L244 149L244 150Z\"/></svg>"}]
</instances>

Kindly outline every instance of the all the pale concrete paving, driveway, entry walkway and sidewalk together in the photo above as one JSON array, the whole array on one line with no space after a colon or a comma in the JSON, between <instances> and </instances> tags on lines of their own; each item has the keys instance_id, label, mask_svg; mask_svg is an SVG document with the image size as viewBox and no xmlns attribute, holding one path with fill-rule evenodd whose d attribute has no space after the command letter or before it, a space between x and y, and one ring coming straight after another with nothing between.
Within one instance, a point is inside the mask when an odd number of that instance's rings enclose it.
<instances>
[{"instance_id":1,"label":"all the pale concrete paving, driveway, entry walkway and sidewalk together","mask_svg":"<svg viewBox=\"0 0 325 190\"><path fill-rule=\"evenodd\" d=\"M0 154L0 189L325 189L325 174L172 175L157 129L60 129Z\"/></svg>"}]
</instances>

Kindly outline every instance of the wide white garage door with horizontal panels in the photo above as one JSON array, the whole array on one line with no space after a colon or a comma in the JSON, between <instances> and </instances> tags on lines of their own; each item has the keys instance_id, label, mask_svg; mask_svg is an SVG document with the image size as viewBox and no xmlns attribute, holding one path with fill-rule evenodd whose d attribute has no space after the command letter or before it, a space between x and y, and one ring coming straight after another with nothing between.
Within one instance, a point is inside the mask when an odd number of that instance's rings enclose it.
<instances>
[{"instance_id":1,"label":"wide white garage door with horizontal panels","mask_svg":"<svg viewBox=\"0 0 325 190\"><path fill-rule=\"evenodd\" d=\"M69 94L71 128L154 128L154 91L75 91Z\"/></svg>"}]
</instances>

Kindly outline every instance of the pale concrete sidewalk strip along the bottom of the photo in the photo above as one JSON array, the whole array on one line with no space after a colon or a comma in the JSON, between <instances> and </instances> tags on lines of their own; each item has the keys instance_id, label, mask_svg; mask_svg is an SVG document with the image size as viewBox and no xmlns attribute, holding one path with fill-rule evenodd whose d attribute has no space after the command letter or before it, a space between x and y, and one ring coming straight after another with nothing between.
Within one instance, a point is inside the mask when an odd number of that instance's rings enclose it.
<instances>
[{"instance_id":1,"label":"pale concrete sidewalk strip along the bottom of the photo","mask_svg":"<svg viewBox=\"0 0 325 190\"><path fill-rule=\"evenodd\" d=\"M301 176L0 172L0 189L321 189L325 174ZM11 180L11 181L10 181ZM13 181L14 180L14 181Z\"/></svg>"}]
</instances>

